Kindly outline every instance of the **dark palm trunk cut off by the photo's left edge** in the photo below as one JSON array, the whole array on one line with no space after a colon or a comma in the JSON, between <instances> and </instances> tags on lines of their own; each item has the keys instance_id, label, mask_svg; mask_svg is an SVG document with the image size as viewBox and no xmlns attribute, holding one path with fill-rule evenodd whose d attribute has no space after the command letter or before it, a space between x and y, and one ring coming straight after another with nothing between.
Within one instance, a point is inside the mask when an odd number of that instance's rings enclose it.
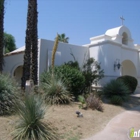
<instances>
[{"instance_id":1,"label":"dark palm trunk cut off by the photo's left edge","mask_svg":"<svg viewBox=\"0 0 140 140\"><path fill-rule=\"evenodd\" d=\"M3 70L3 47L4 47L4 2L0 0L0 73Z\"/></svg>"}]
</instances>

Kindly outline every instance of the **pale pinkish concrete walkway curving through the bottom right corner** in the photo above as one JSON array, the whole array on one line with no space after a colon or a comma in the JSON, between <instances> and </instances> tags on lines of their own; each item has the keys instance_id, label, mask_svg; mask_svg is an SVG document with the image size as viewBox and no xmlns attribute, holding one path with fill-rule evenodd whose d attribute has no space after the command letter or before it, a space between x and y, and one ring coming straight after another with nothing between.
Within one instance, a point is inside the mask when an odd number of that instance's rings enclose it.
<instances>
[{"instance_id":1,"label":"pale pinkish concrete walkway curving through the bottom right corner","mask_svg":"<svg viewBox=\"0 0 140 140\"><path fill-rule=\"evenodd\" d=\"M128 133L132 127L135 131L140 129L140 106L117 115L103 131L85 140L129 140ZM140 137L132 140L140 140Z\"/></svg>"}]
</instances>

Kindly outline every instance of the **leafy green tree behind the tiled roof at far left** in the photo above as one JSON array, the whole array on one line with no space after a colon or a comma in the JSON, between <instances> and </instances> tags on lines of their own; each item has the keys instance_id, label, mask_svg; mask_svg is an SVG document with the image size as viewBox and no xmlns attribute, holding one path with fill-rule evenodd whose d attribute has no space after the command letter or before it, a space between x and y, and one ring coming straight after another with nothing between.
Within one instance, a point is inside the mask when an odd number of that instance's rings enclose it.
<instances>
[{"instance_id":1,"label":"leafy green tree behind the tiled roof at far left","mask_svg":"<svg viewBox=\"0 0 140 140\"><path fill-rule=\"evenodd\" d=\"M15 38L11 34L4 33L4 47L4 53L9 53L16 49Z\"/></svg>"}]
</instances>

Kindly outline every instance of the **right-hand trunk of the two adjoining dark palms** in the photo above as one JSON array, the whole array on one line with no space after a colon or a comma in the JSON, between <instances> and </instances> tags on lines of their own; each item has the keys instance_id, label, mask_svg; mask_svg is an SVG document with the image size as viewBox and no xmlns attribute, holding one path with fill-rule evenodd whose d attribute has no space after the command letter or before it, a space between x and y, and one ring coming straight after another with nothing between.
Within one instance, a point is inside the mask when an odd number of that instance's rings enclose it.
<instances>
[{"instance_id":1,"label":"right-hand trunk of the two adjoining dark palms","mask_svg":"<svg viewBox=\"0 0 140 140\"><path fill-rule=\"evenodd\" d=\"M33 29L32 29L32 68L31 79L34 85L38 84L38 12L37 12L37 0L33 0Z\"/></svg>"}]
</instances>

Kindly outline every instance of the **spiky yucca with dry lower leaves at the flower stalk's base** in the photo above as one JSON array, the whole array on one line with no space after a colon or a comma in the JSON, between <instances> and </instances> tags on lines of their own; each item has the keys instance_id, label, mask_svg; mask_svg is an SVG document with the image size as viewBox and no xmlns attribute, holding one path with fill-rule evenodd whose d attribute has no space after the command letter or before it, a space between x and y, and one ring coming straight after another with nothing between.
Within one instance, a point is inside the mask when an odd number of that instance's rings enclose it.
<instances>
[{"instance_id":1,"label":"spiky yucca with dry lower leaves at the flower stalk's base","mask_svg":"<svg viewBox=\"0 0 140 140\"><path fill-rule=\"evenodd\" d=\"M41 86L44 91L44 99L48 104L68 104L73 97L65 86L66 83L56 74L44 72L41 75Z\"/></svg>"}]
</instances>

